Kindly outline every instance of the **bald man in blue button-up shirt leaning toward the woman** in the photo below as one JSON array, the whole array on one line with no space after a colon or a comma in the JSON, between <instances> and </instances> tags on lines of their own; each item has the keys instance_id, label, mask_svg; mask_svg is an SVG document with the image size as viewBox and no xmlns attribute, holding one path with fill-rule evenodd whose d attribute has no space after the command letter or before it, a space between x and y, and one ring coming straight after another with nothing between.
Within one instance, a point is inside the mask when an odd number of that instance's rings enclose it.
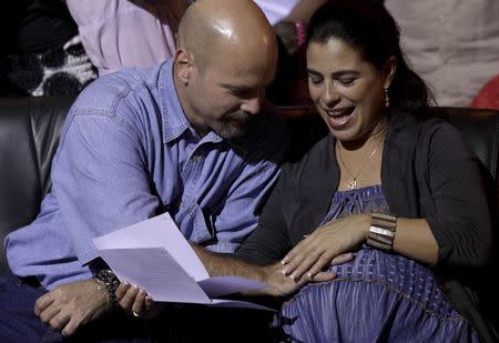
<instances>
[{"instance_id":1,"label":"bald man in blue button-up shirt leaning toward the woman","mask_svg":"<svg viewBox=\"0 0 499 343\"><path fill-rule=\"evenodd\" d=\"M173 59L88 87L71 108L34 222L6 239L0 341L134 337L92 239L169 212L192 243L231 253L256 226L285 134L262 110L275 36L248 0L200 0ZM146 272L146 271L145 271Z\"/></svg>"}]
</instances>

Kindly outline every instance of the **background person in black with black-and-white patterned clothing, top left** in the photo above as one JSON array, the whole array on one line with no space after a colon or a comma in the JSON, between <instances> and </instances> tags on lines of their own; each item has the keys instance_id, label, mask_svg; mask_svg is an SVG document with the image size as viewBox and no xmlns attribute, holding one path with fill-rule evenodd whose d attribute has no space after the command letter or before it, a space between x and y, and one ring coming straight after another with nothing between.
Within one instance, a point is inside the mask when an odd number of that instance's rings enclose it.
<instances>
[{"instance_id":1,"label":"background person in black with black-and-white patterned clothing, top left","mask_svg":"<svg viewBox=\"0 0 499 343\"><path fill-rule=\"evenodd\" d=\"M13 1L2 12L2 97L78 94L96 78L64 1Z\"/></svg>"}]
</instances>

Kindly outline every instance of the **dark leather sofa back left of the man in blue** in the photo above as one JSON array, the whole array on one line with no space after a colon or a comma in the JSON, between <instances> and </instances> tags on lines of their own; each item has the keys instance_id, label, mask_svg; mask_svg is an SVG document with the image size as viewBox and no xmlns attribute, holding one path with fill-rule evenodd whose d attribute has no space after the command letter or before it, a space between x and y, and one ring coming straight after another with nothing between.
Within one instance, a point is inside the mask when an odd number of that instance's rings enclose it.
<instances>
[{"instance_id":1,"label":"dark leather sofa back left of the man in blue","mask_svg":"<svg viewBox=\"0 0 499 343\"><path fill-rule=\"evenodd\" d=\"M0 99L0 270L3 239L29 224L50 190L50 167L74 98Z\"/></svg>"}]
</instances>

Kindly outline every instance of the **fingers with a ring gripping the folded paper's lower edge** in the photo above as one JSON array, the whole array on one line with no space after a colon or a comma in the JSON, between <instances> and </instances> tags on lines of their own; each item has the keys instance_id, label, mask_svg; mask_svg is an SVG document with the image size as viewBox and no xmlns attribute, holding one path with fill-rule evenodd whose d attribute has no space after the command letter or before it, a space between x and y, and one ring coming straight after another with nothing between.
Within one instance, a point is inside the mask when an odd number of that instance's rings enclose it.
<instances>
[{"instance_id":1,"label":"fingers with a ring gripping the folded paper's lower edge","mask_svg":"<svg viewBox=\"0 0 499 343\"><path fill-rule=\"evenodd\" d=\"M120 283L116 299L126 313L144 320L153 319L163 309L163 305L154 302L144 290L128 282Z\"/></svg>"}]
</instances>

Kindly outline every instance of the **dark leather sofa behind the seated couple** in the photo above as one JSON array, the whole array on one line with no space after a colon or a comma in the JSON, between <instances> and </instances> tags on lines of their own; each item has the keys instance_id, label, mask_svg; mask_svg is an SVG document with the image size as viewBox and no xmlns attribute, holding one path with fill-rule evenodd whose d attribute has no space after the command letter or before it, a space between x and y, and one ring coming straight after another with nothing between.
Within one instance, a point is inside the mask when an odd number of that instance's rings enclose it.
<instances>
[{"instance_id":1,"label":"dark leather sofa behind the seated couple","mask_svg":"<svg viewBox=\"0 0 499 343\"><path fill-rule=\"evenodd\" d=\"M50 190L50 167L60 130L74 98L0 99L0 240L28 223L40 210ZM317 120L312 108L282 108L292 128ZM487 189L496 214L498 195L499 111L467 108L438 108L464 133L482 163ZM302 132L303 133L303 132ZM298 148L301 142L294 142ZM496 216L497 218L497 216ZM0 273L7 268L3 245Z\"/></svg>"}]
</instances>

